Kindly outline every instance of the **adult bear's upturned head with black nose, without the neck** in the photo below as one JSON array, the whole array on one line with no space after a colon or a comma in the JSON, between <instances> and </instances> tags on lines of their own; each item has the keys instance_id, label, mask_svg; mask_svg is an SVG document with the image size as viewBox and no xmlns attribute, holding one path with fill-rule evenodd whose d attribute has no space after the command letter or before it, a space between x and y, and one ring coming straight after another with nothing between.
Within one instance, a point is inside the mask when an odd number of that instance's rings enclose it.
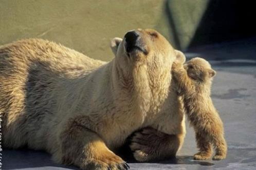
<instances>
[{"instance_id":1,"label":"adult bear's upturned head with black nose, without the neck","mask_svg":"<svg viewBox=\"0 0 256 170\"><path fill-rule=\"evenodd\" d=\"M181 54L153 29L129 31L123 39L113 39L111 48L116 56L115 64L123 75L136 77L140 74L151 79L164 77L164 74L170 77L172 63Z\"/></svg>"}]
</instances>

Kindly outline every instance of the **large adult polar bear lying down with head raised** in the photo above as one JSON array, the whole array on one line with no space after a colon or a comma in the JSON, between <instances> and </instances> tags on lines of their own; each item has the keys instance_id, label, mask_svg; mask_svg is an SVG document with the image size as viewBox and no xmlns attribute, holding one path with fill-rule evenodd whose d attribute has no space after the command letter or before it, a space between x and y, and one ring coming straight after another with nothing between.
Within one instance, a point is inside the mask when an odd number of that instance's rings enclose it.
<instances>
[{"instance_id":1,"label":"large adult polar bear lying down with head raised","mask_svg":"<svg viewBox=\"0 0 256 170\"><path fill-rule=\"evenodd\" d=\"M1 46L4 147L45 149L82 169L127 169L112 151L135 130L152 127L161 144L136 138L135 158L174 156L185 122L171 68L182 53L152 29L127 32L111 47L116 57L105 63L44 40Z\"/></svg>"}]
</instances>

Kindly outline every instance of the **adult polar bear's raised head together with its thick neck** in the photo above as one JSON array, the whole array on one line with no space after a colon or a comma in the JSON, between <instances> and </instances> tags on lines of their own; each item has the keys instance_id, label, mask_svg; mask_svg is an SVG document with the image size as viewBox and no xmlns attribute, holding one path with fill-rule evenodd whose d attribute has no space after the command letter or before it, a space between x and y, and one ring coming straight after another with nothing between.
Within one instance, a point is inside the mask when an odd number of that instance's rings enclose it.
<instances>
[{"instance_id":1,"label":"adult polar bear's raised head together with its thick neck","mask_svg":"<svg viewBox=\"0 0 256 170\"><path fill-rule=\"evenodd\" d=\"M123 39L111 42L115 54L114 79L121 84L142 112L158 112L169 96L171 68L175 60L185 61L182 52L153 29L136 29L127 32Z\"/></svg>"}]
</instances>

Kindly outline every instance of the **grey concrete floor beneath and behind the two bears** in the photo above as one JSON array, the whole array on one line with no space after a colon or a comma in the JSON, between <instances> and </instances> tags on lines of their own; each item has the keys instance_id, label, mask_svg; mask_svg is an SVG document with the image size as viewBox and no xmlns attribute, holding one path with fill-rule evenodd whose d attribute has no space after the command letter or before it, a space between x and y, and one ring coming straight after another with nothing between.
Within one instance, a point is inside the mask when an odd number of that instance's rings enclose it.
<instances>
[{"instance_id":1,"label":"grey concrete floor beneath and behind the two bears","mask_svg":"<svg viewBox=\"0 0 256 170\"><path fill-rule=\"evenodd\" d=\"M186 140L176 159L130 160L131 169L256 169L256 38L193 48L187 56L202 56L217 71L212 99L225 125L227 159L194 161L194 132L187 123ZM45 152L27 149L4 149L2 157L3 169L78 169L53 163Z\"/></svg>"}]
</instances>

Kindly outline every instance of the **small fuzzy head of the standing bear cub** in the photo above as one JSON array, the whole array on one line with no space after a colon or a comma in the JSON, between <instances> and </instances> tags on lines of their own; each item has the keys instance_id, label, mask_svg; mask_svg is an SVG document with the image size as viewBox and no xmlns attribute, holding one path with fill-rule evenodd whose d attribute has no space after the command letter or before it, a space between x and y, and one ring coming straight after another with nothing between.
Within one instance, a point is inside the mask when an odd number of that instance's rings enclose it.
<instances>
[{"instance_id":1,"label":"small fuzzy head of the standing bear cub","mask_svg":"<svg viewBox=\"0 0 256 170\"><path fill-rule=\"evenodd\" d=\"M207 81L212 80L216 71L211 68L209 62L202 58L193 58L188 61L184 68L188 72L188 76L194 80Z\"/></svg>"}]
</instances>

